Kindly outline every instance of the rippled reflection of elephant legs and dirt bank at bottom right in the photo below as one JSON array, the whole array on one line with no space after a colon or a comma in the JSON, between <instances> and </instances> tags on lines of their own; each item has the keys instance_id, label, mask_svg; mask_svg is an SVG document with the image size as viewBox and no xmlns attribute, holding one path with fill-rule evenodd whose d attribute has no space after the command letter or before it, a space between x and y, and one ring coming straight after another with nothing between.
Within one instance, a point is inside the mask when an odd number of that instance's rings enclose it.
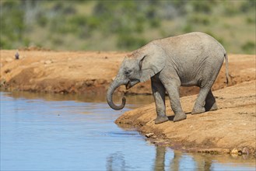
<instances>
[{"instance_id":1,"label":"rippled reflection of elephant legs and dirt bank at bottom right","mask_svg":"<svg viewBox=\"0 0 256 171\"><path fill-rule=\"evenodd\" d=\"M189 154L177 150L167 156L167 147L156 145L155 171L162 170L255 170L256 160L230 155ZM169 157L169 159L166 159ZM168 166L167 161L170 161Z\"/></svg>"}]
</instances>

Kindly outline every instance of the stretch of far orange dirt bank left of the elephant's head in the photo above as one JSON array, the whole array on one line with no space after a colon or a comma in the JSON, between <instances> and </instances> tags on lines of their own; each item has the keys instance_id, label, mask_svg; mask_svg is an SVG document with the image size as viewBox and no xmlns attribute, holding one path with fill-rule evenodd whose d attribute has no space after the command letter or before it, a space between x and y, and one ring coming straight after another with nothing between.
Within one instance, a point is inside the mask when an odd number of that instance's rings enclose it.
<instances>
[{"instance_id":1,"label":"stretch of far orange dirt bank left of the elephant's head","mask_svg":"<svg viewBox=\"0 0 256 171\"><path fill-rule=\"evenodd\" d=\"M4 89L33 92L105 92L122 61L115 52L1 51Z\"/></svg>"}]
</instances>

